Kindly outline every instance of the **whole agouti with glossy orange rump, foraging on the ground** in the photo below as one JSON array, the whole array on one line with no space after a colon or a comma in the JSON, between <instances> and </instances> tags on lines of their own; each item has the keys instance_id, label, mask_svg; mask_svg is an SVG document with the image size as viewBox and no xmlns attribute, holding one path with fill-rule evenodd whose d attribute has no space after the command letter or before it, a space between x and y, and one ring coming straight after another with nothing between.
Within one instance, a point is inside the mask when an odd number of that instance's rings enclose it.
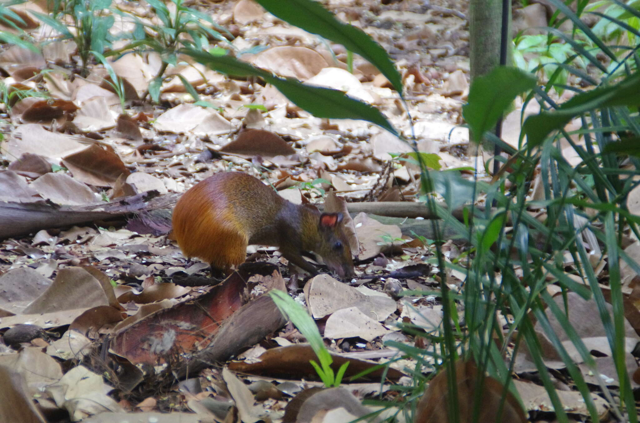
<instances>
[{"instance_id":1,"label":"whole agouti with glossy orange rump, foraging on the ground","mask_svg":"<svg viewBox=\"0 0 640 423\"><path fill-rule=\"evenodd\" d=\"M301 252L313 251L340 277L353 277L342 213L293 204L253 176L225 172L191 187L173 210L173 236L182 253L230 272L250 244L273 245L304 270L317 270Z\"/></svg>"}]
</instances>

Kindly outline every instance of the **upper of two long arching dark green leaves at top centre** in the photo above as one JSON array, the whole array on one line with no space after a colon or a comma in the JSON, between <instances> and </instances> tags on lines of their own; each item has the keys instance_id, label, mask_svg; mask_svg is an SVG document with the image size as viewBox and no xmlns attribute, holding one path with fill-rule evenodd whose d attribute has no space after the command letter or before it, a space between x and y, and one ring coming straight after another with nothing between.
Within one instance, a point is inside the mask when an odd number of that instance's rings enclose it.
<instances>
[{"instance_id":1,"label":"upper of two long arching dark green leaves at top centre","mask_svg":"<svg viewBox=\"0 0 640 423\"><path fill-rule=\"evenodd\" d=\"M340 43L356 54L360 54L376 66L402 96L402 79L387 52L371 36L361 29L343 24L333 13L314 0L257 0L276 17L298 26L312 34L317 34Z\"/></svg>"}]
</instances>

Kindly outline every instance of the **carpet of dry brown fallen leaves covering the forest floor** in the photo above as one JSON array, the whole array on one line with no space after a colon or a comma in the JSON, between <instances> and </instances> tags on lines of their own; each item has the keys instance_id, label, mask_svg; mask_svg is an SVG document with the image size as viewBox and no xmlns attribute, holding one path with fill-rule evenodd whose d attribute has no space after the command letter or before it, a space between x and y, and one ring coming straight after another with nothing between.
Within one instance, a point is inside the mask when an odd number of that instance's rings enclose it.
<instances>
[{"instance_id":1,"label":"carpet of dry brown fallen leaves covering the forest floor","mask_svg":"<svg viewBox=\"0 0 640 423\"><path fill-rule=\"evenodd\" d=\"M115 3L150 19L140 5ZM425 8L417 1L353 5L332 0L328 7L342 21L361 26L396 61L419 150L440 156L444 169L473 166L465 155L468 131L460 127L468 95L467 22L460 17L466 11L452 1L433 3L442 4ZM52 36L50 27L25 12L46 13L39 3L12 7L36 40ZM405 105L390 82L358 56L349 73L348 52L341 45L287 26L250 0L212 3L203 11L234 33L232 43L247 51L243 60L307 84L339 88L376 105L396 128L408 132ZM129 25L120 15L114 17L113 31ZM364 121L315 118L269 84L229 79L180 59L167 68L173 78L160 86L161 105L152 105L143 99L161 58L156 53L109 58L123 83L123 110L104 65L93 65L86 79L70 78L68 68L78 63L70 40L50 42L42 54L19 46L0 52L0 68L8 75L4 86L32 94L1 106L8 136L0 146L6 167L0 173L0 207L11 204L7 210L12 219L0 218L0 420L43 422L64 410L70 420L86 422L134 415L157 422L255 422L265 415L274 421L346 422L375 410L362 406L363 398L393 399L397 392L391 383L410 383L406 369L416 363L400 359L399 350L383 341L425 348L425 338L404 333L398 322L413 323L423 334L438 332L442 305L437 293L398 300L402 291L437 287L437 269L409 273L431 251L412 240L415 235L405 219L378 222L365 213L355 217L352 239L357 237L360 245L357 270L362 278L352 284L319 275L301 291L296 273L283 278L284 259L273 249L253 249L251 258L261 263L246 263L231 279L207 286L206 266L187 261L167 239L166 210L177 198L171 194L233 168L261 174L298 203L315 202L331 187L350 201L376 193L378 199L397 202L415 196L419 173L410 164L388 171L390 153L410 149L380 128ZM41 78L33 76L42 70L47 72ZM520 112L513 111L506 122ZM519 125L508 128L504 139L516 140ZM324 181L314 183L318 178ZM150 206L158 195L166 202ZM378 205L369 204L369 212L375 213ZM37 219L43 213L52 219ZM449 260L459 254L454 243L444 249ZM625 252L634 258L639 250L636 241ZM403 268L406 277L385 282L390 272ZM632 372L637 368L632 353L640 331L640 288L632 269L623 266L621 272L629 296L625 327ZM460 289L465 275L450 273L451 288ZM373 369L367 376L371 383L356 380L319 389L309 365L314 353L264 296L271 288L286 290L285 285L316 319L334 362L349 361L348 376ZM595 305L570 299L576 301L570 309L578 314L577 321L596 312ZM594 351L601 378L616 385L601 328L584 327L579 335ZM570 341L562 341L570 347ZM253 357L246 350L252 345ZM526 351L518 357L523 361L516 362L516 373L520 367L531 370ZM545 357L545 362L558 369L554 358ZM388 360L393 364L380 383L376 364ZM586 380L596 385L593 369L577 362ZM433 365L422 364L422 371L432 371ZM477 369L470 362L456 368L462 372L456 378L460 387L468 388ZM446 391L442 376L431 381L416 421L436 421L425 416L445 412L424 411L446 406L428 401ZM552 410L545 390L525 379L515 380L515 388L527 411ZM493 404L500 382L485 381L487 404ZM578 392L558 392L574 415L588 414ZM604 417L605 401L595 400ZM509 421L524 421L513 401L507 397L504 412L515 416ZM487 404L481 413L494 412Z\"/></svg>"}]
</instances>

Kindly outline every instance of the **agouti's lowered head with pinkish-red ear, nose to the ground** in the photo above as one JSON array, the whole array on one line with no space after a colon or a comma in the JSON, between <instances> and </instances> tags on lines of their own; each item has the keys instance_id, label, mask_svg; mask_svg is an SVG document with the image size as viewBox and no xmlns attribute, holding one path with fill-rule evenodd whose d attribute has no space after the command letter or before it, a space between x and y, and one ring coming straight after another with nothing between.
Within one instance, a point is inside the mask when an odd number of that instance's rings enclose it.
<instances>
[{"instance_id":1,"label":"agouti's lowered head with pinkish-red ear, nose to the ground","mask_svg":"<svg viewBox=\"0 0 640 423\"><path fill-rule=\"evenodd\" d=\"M317 253L324 263L339 277L351 278L353 272L353 258L349 239L342 226L342 213L322 213L320 215L320 245Z\"/></svg>"}]
</instances>

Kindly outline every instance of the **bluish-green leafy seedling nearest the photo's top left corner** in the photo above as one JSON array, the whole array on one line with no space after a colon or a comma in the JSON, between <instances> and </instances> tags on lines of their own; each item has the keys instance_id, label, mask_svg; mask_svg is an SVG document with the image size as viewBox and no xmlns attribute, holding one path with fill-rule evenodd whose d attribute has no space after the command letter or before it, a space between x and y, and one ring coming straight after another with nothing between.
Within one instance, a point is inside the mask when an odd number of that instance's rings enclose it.
<instances>
[{"instance_id":1,"label":"bluish-green leafy seedling nearest the photo's top left corner","mask_svg":"<svg viewBox=\"0 0 640 423\"><path fill-rule=\"evenodd\" d=\"M104 53L111 47L113 37L109 29L115 22L115 17L108 13L111 0L54 0L53 16L44 13L31 12L45 24L58 31L64 40L74 40L82 62L81 75L89 75L89 63L93 52ZM61 15L67 15L73 21L74 33L63 24Z\"/></svg>"}]
</instances>

